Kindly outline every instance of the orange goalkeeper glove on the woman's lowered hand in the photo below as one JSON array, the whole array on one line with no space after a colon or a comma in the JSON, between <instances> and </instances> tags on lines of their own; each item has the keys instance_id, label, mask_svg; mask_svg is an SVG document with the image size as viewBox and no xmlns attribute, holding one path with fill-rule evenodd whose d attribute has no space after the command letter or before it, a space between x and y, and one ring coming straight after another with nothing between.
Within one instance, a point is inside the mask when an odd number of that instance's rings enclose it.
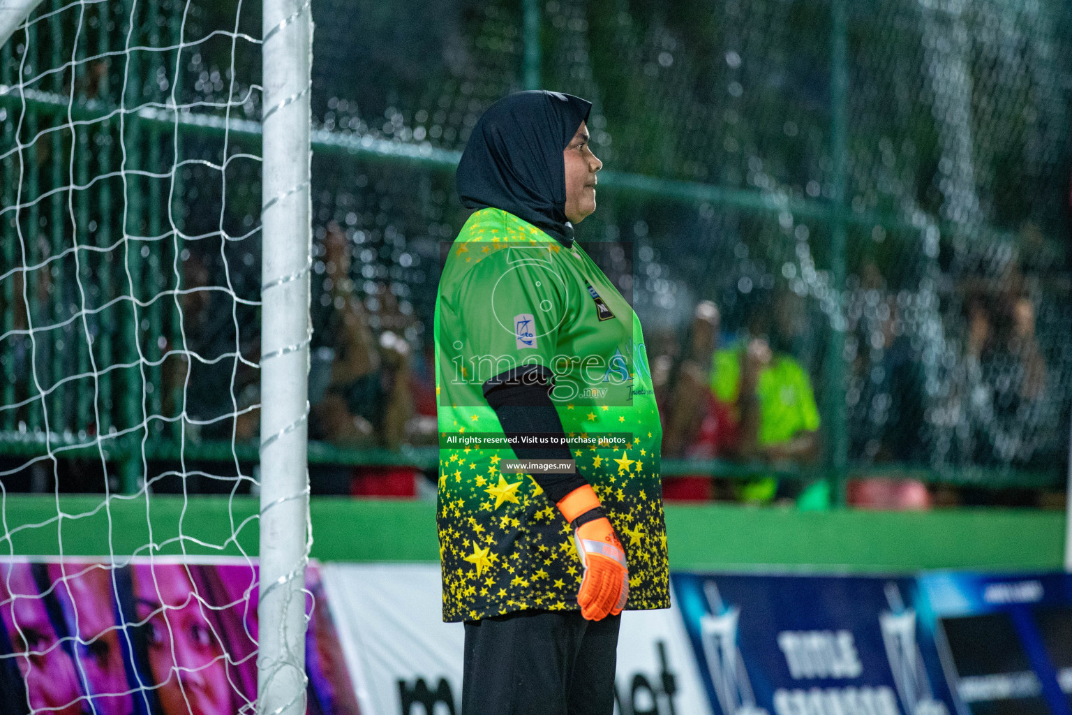
<instances>
[{"instance_id":1,"label":"orange goalkeeper glove on the woman's lowered hand","mask_svg":"<svg viewBox=\"0 0 1072 715\"><path fill-rule=\"evenodd\" d=\"M589 621L617 615L629 597L629 568L599 497L590 485L584 485L562 497L557 506L574 526L574 543L584 567L577 592L581 615Z\"/></svg>"}]
</instances>

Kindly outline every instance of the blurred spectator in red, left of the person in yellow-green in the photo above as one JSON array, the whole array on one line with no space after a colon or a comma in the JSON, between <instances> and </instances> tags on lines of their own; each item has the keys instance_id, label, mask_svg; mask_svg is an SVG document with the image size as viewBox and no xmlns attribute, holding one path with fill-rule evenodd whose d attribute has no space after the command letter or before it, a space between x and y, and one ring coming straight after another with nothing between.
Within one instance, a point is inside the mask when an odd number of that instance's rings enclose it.
<instances>
[{"instance_id":1,"label":"blurred spectator in red, left of the person in yellow-green","mask_svg":"<svg viewBox=\"0 0 1072 715\"><path fill-rule=\"evenodd\" d=\"M711 460L724 457L727 445L736 442L729 405L711 390L711 367L718 347L718 308L701 300L689 324L685 349L668 378L670 399L665 411L662 455L668 458ZM715 495L711 475L666 476L662 497L710 500Z\"/></svg>"}]
</instances>

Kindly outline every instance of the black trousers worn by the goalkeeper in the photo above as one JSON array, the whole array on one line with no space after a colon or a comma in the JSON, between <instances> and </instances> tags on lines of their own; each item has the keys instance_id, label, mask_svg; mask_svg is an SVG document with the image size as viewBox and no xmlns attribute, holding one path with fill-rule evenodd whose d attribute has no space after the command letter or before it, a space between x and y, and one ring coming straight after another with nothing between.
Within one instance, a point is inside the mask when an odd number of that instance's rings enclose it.
<instances>
[{"instance_id":1,"label":"black trousers worn by the goalkeeper","mask_svg":"<svg viewBox=\"0 0 1072 715\"><path fill-rule=\"evenodd\" d=\"M461 715L611 715L621 623L580 611L466 621Z\"/></svg>"}]
</instances>

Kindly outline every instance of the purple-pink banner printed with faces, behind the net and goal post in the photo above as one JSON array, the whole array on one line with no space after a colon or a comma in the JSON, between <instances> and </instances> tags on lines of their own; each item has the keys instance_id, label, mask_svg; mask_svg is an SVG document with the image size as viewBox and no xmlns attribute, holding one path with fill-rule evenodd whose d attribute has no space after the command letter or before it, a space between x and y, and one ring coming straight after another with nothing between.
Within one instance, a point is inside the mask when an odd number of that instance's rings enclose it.
<instances>
[{"instance_id":1,"label":"purple-pink banner printed with faces, behind the net and goal post","mask_svg":"<svg viewBox=\"0 0 1072 715\"><path fill-rule=\"evenodd\" d=\"M0 561L0 690L60 715L236 715L256 701L257 569L245 560ZM360 715L316 566L309 712ZM23 696L20 696L23 697Z\"/></svg>"}]
</instances>

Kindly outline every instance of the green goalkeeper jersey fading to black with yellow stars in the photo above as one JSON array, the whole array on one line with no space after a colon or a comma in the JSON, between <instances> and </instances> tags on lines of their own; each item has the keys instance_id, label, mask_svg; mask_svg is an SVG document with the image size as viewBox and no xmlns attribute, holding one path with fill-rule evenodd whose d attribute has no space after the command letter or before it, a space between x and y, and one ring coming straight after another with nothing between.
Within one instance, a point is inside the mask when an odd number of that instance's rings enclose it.
<instances>
[{"instance_id":1,"label":"green goalkeeper jersey fading to black with yellow stars","mask_svg":"<svg viewBox=\"0 0 1072 715\"><path fill-rule=\"evenodd\" d=\"M584 249L506 211L475 212L443 267L434 339L444 621L580 610L569 524L531 475L500 471L512 448L465 442L503 434L482 386L511 368L554 374L578 471L625 548L626 608L668 608L662 429L643 332Z\"/></svg>"}]
</instances>

